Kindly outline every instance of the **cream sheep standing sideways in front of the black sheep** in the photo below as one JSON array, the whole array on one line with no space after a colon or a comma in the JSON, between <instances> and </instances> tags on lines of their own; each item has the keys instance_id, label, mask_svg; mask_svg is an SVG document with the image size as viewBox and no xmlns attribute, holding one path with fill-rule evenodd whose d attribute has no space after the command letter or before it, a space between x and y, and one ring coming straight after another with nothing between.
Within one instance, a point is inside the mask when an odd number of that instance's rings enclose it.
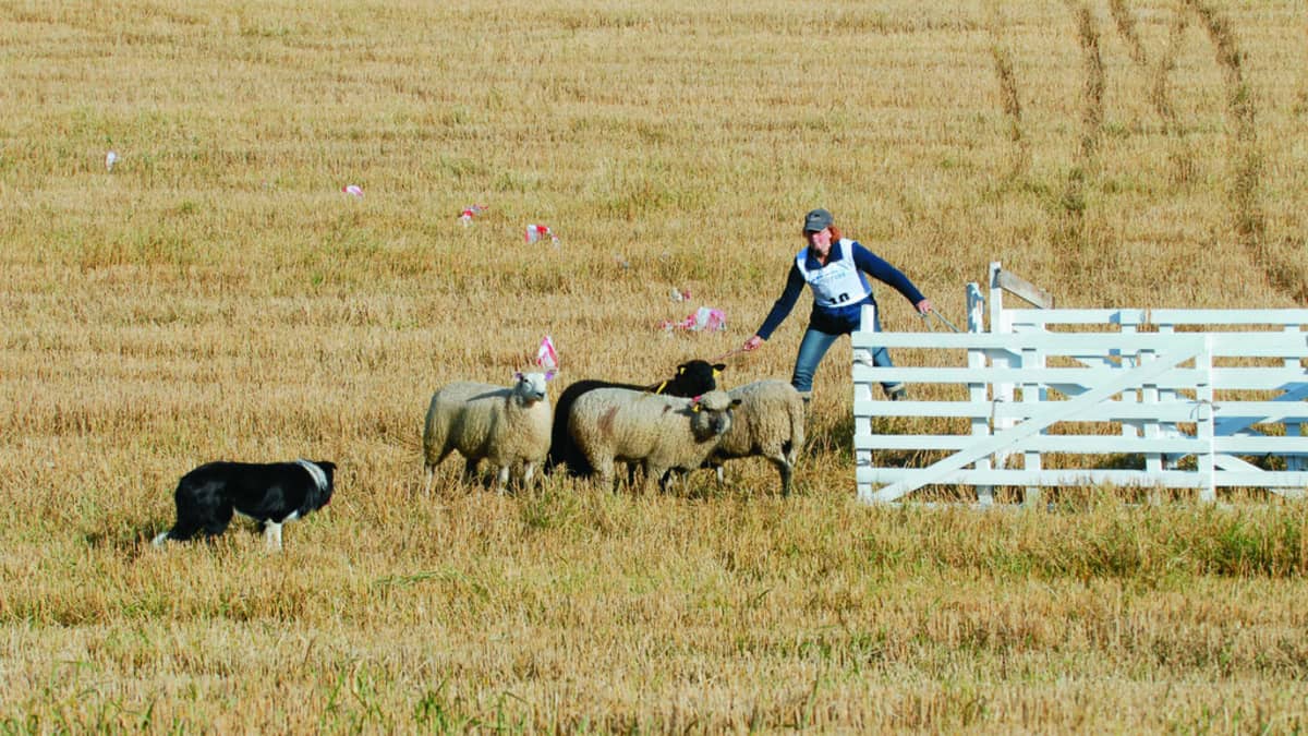
<instances>
[{"instance_id":1,"label":"cream sheep standing sideways in front of the black sheep","mask_svg":"<svg viewBox=\"0 0 1308 736\"><path fill-rule=\"evenodd\" d=\"M603 482L612 483L615 461L640 462L645 485L657 479L666 490L668 470L689 470L708 460L739 403L722 390L680 398L595 389L577 398L568 433Z\"/></svg>"}]
</instances>

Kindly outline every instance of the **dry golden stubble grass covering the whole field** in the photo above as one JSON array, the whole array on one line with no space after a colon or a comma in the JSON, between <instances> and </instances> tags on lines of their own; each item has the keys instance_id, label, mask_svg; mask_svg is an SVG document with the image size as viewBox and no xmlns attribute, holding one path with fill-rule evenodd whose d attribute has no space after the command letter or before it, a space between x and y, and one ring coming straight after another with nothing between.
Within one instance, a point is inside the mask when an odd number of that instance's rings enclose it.
<instances>
[{"instance_id":1,"label":"dry golden stubble grass covering the whole field","mask_svg":"<svg viewBox=\"0 0 1308 736\"><path fill-rule=\"evenodd\" d=\"M819 204L955 321L994 259L1063 305L1301 306L1305 24L0 3L0 729L1304 729L1304 508L857 507L840 347L787 500L761 461L654 498L450 461L425 499L417 432L545 333L565 380L738 346ZM661 334L674 287L730 329ZM804 309L729 382L786 377ZM340 490L284 554L145 543L191 466L300 456Z\"/></svg>"}]
</instances>

